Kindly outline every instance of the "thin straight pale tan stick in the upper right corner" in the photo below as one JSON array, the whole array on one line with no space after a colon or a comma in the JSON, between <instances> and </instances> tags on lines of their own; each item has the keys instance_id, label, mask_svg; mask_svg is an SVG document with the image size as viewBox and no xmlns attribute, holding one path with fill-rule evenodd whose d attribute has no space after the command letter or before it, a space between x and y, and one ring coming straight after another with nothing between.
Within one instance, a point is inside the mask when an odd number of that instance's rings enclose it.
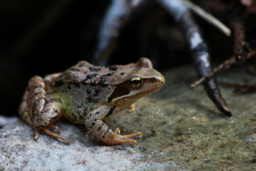
<instances>
[{"instance_id":1,"label":"thin straight pale tan stick in the upper right corner","mask_svg":"<svg viewBox=\"0 0 256 171\"><path fill-rule=\"evenodd\" d=\"M231 30L226 27L223 23L220 22L217 18L209 14L208 12L204 11L198 5L188 1L188 0L180 0L184 5L186 5L189 9L197 13L199 16L204 18L207 22L214 25L218 29L220 29L226 36L231 35Z\"/></svg>"}]
</instances>

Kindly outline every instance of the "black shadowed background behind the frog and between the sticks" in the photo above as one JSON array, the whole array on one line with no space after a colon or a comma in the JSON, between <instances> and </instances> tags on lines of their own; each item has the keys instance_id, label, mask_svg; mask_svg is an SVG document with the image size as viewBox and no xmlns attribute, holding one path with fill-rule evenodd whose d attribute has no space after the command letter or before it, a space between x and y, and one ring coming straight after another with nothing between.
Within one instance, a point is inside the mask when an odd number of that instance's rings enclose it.
<instances>
[{"instance_id":1,"label":"black shadowed background behind the frog and between the sticks","mask_svg":"<svg viewBox=\"0 0 256 171\"><path fill-rule=\"evenodd\" d=\"M0 0L0 115L17 115L30 77L66 70L80 60L92 61L110 2ZM52 24L40 22L50 11L56 12L48 18L55 18ZM231 57L232 36L195 18L214 62ZM160 71L191 63L182 30L155 2L135 10L119 35L109 65L136 62L143 56Z\"/></svg>"}]
</instances>

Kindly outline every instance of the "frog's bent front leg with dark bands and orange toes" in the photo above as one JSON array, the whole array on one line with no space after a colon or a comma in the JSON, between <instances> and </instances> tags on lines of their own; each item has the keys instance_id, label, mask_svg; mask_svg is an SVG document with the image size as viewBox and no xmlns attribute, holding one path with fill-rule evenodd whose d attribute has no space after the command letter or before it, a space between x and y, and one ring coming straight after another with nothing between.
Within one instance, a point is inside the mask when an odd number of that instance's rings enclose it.
<instances>
[{"instance_id":1,"label":"frog's bent front leg with dark bands and orange toes","mask_svg":"<svg viewBox=\"0 0 256 171\"><path fill-rule=\"evenodd\" d=\"M97 139L108 145L117 145L123 143L133 142L138 145L135 139L129 139L136 136L143 135L140 132L129 135L118 135L119 129L112 131L108 125L103 123L102 119L111 115L114 107L108 105L100 105L97 109L91 111L87 117L84 124L86 124L87 130Z\"/></svg>"}]
</instances>

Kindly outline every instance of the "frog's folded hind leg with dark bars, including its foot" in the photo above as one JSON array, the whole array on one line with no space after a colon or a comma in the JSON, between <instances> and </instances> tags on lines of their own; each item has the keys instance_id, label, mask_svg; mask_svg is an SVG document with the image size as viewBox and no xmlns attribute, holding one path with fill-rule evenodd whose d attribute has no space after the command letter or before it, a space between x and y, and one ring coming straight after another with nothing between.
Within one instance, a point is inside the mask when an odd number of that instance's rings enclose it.
<instances>
[{"instance_id":1,"label":"frog's folded hind leg with dark bars, including its foot","mask_svg":"<svg viewBox=\"0 0 256 171\"><path fill-rule=\"evenodd\" d=\"M52 91L47 94L45 86L45 81L39 76L30 79L19 106L19 114L25 122L34 128L34 140L38 139L39 131L42 131L48 136L62 139L69 144L65 137L48 130L48 128L55 129L59 133L58 127L52 124L61 117L61 103L58 93Z\"/></svg>"}]
</instances>

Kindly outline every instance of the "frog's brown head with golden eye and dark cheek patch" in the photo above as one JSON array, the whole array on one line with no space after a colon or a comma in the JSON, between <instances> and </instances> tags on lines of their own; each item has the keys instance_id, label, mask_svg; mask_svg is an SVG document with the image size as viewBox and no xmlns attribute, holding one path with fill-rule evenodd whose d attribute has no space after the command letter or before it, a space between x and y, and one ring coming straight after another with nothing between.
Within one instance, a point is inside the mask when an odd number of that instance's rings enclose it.
<instances>
[{"instance_id":1,"label":"frog's brown head with golden eye and dark cheek patch","mask_svg":"<svg viewBox=\"0 0 256 171\"><path fill-rule=\"evenodd\" d=\"M127 74L123 82L116 85L109 102L121 100L135 101L140 97L158 91L165 80L162 74L153 68L152 62L147 58L140 58L138 62L133 63L132 71Z\"/></svg>"}]
</instances>

